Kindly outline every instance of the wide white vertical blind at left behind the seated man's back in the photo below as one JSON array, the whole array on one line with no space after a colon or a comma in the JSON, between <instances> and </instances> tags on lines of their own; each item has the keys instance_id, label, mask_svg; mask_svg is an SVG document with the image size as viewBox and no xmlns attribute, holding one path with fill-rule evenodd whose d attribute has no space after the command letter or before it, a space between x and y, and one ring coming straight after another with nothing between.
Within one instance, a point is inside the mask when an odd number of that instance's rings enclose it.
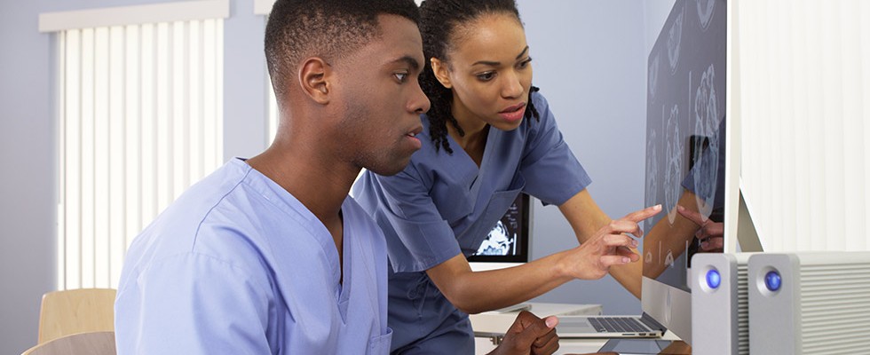
<instances>
[{"instance_id":1,"label":"wide white vertical blind at left behind the seated man's back","mask_svg":"<svg viewBox=\"0 0 870 355\"><path fill-rule=\"evenodd\" d=\"M56 32L58 287L116 288L133 238L221 164L223 18Z\"/></svg>"}]
</instances>

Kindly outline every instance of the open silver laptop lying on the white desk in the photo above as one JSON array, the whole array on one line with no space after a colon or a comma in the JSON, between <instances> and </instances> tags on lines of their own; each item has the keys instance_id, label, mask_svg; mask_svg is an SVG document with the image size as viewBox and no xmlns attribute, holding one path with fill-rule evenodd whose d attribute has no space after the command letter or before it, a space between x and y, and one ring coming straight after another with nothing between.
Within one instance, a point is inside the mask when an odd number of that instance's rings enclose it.
<instances>
[{"instance_id":1,"label":"open silver laptop lying on the white desk","mask_svg":"<svg viewBox=\"0 0 870 355\"><path fill-rule=\"evenodd\" d=\"M655 338L667 329L653 317L638 316L559 316L556 331L560 338Z\"/></svg>"}]
</instances>

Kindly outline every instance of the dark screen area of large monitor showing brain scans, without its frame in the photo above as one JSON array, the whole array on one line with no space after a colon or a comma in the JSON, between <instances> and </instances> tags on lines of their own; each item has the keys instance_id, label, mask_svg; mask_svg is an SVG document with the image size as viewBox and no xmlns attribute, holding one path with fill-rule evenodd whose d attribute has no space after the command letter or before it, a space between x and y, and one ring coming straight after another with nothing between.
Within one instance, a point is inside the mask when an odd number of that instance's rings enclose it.
<instances>
[{"instance_id":1,"label":"dark screen area of large monitor showing brain scans, without its frame","mask_svg":"<svg viewBox=\"0 0 870 355\"><path fill-rule=\"evenodd\" d=\"M644 247L645 263L663 266L650 270L664 271L645 276L684 290L700 242L674 235L676 204L690 193L684 207L702 218L721 222L724 213L726 12L716 6L677 0L647 59L645 206L661 204L665 213L644 223L646 235L653 226L664 231Z\"/></svg>"}]
</instances>

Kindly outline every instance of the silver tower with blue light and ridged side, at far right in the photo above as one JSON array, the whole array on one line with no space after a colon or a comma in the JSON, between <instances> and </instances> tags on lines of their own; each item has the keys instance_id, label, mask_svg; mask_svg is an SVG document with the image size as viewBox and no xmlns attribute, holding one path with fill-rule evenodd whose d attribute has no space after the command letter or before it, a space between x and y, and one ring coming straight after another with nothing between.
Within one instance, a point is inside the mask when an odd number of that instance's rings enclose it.
<instances>
[{"instance_id":1,"label":"silver tower with blue light and ridged side, at far right","mask_svg":"<svg viewBox=\"0 0 870 355\"><path fill-rule=\"evenodd\" d=\"M870 351L870 252L749 257L749 351Z\"/></svg>"}]
</instances>

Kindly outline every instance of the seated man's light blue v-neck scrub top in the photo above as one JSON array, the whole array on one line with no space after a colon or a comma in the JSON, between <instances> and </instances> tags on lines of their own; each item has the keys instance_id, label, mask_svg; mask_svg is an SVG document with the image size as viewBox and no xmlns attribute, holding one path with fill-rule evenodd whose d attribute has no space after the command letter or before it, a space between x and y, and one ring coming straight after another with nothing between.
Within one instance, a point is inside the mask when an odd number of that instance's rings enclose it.
<instances>
[{"instance_id":1,"label":"seated man's light blue v-neck scrub top","mask_svg":"<svg viewBox=\"0 0 870 355\"><path fill-rule=\"evenodd\" d=\"M386 354L384 236L348 197L325 225L239 159L182 194L124 261L119 354Z\"/></svg>"}]
</instances>

